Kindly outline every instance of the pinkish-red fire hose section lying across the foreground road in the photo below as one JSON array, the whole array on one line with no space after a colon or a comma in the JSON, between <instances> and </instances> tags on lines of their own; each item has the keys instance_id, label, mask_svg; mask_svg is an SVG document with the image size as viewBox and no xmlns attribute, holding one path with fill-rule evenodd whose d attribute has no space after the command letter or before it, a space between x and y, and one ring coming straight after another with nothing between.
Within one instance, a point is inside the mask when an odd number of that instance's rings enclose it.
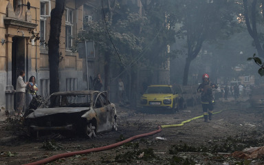
<instances>
[{"instance_id":1,"label":"pinkish-red fire hose section lying across the foreground road","mask_svg":"<svg viewBox=\"0 0 264 165\"><path fill-rule=\"evenodd\" d=\"M29 163L29 164L23 164L23 165L39 165L39 164L46 164L48 162L52 162L56 159L61 159L63 157L71 157L73 155L81 155L81 154L85 154L85 153L91 153L91 152L98 152L98 151L104 151L104 150L108 150L108 149L111 149L111 148L115 148L117 146L121 146L122 144L124 143L127 143L127 142L131 142L132 140L135 140L137 138L140 138L140 137L144 137L144 136L148 136L148 135L154 135L156 133L159 133L162 131L162 127L161 126L158 126L158 130L156 131L152 131L150 133L143 133L143 134L140 134L140 135L135 135L133 137L130 137L126 140L123 140L121 142L117 142L115 144L111 144L109 146L101 146L101 147L98 147L98 148L90 148L90 149L87 149L87 150L83 150L83 151L75 151L75 152L71 152L71 153L61 153L61 154L58 154L58 155L54 155L52 157L47 157L45 159L42 159L42 160L39 160L37 162L32 162L32 163Z\"/></svg>"}]
</instances>

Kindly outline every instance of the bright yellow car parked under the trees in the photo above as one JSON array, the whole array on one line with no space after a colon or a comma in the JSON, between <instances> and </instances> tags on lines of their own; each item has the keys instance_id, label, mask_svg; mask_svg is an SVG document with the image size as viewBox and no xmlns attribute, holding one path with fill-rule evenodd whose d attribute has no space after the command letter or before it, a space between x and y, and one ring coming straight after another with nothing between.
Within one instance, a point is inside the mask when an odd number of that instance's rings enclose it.
<instances>
[{"instance_id":1,"label":"bright yellow car parked under the trees","mask_svg":"<svg viewBox=\"0 0 264 165\"><path fill-rule=\"evenodd\" d=\"M161 109L175 112L179 107L179 94L172 85L149 85L141 96L142 109Z\"/></svg>"}]
</instances>

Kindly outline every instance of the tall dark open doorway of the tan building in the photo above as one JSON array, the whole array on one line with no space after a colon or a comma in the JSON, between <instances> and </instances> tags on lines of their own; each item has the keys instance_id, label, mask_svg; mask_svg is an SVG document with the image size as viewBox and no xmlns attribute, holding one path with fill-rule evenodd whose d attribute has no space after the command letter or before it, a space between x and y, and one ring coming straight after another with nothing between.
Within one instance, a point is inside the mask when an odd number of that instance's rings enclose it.
<instances>
[{"instance_id":1,"label":"tall dark open doorway of the tan building","mask_svg":"<svg viewBox=\"0 0 264 165\"><path fill-rule=\"evenodd\" d=\"M19 76L19 72L21 70L25 71L25 39L23 37L13 37L12 38L12 86L14 87L15 90L17 87L17 77ZM14 109L17 109L16 94L14 95Z\"/></svg>"}]
</instances>

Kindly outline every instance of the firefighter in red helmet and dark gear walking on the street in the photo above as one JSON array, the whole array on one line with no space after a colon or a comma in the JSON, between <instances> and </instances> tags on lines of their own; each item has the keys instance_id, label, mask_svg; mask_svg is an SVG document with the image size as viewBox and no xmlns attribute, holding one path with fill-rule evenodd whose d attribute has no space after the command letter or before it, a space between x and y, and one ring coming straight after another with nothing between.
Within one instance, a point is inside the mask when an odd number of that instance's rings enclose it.
<instances>
[{"instance_id":1,"label":"firefighter in red helmet and dark gear walking on the street","mask_svg":"<svg viewBox=\"0 0 264 165\"><path fill-rule=\"evenodd\" d=\"M218 85L210 82L209 75L203 74L203 83L199 85L197 91L201 93L201 105L203 107L204 122L212 120L212 110L214 109L214 96L212 96L212 88L217 89Z\"/></svg>"}]
</instances>

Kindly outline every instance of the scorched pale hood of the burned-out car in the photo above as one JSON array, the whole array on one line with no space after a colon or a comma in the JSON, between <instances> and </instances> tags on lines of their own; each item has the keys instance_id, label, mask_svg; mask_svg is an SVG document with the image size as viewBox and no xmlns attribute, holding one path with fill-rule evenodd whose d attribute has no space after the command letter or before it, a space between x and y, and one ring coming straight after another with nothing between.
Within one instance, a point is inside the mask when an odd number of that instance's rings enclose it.
<instances>
[{"instance_id":1,"label":"scorched pale hood of the burned-out car","mask_svg":"<svg viewBox=\"0 0 264 165\"><path fill-rule=\"evenodd\" d=\"M59 108L45 108L36 109L30 113L26 118L39 118L45 115L53 115L57 113L77 113L80 111L89 111L89 107L59 107Z\"/></svg>"}]
</instances>

